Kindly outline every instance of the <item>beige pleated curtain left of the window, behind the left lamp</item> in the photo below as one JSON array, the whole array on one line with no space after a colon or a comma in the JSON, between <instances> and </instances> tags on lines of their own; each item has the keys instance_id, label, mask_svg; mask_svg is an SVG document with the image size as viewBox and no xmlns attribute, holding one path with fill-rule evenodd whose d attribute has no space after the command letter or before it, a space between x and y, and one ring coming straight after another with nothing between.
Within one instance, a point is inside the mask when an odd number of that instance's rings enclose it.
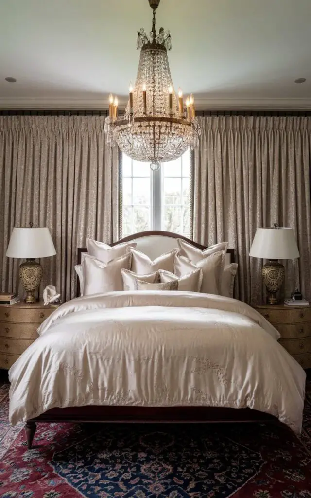
<instances>
[{"instance_id":1,"label":"beige pleated curtain left of the window, behind the left lamp","mask_svg":"<svg viewBox=\"0 0 311 498\"><path fill-rule=\"evenodd\" d=\"M0 281L15 290L19 260L5 256L13 227L47 226L56 256L42 258L41 288L75 295L77 248L118 239L118 150L104 117L0 117ZM42 289L41 289L42 295Z\"/></svg>"}]
</instances>

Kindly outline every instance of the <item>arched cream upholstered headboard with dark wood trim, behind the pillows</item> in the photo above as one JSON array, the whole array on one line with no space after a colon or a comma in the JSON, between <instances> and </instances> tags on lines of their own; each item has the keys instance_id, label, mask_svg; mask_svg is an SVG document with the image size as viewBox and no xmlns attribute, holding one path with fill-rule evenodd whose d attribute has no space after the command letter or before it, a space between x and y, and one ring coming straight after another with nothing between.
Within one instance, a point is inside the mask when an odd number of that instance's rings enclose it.
<instances>
[{"instance_id":1,"label":"arched cream upholstered headboard with dark wood trim, behind the pillows","mask_svg":"<svg viewBox=\"0 0 311 498\"><path fill-rule=\"evenodd\" d=\"M173 234L171 232L151 230L148 232L140 232L138 234L129 235L128 237L125 237L120 241L113 242L113 244L110 244L110 246L115 246L116 244L120 244L121 242L133 241L137 243L137 249L147 254L147 256L149 256L150 259L153 260L164 252L177 248L178 245L176 239L183 239L184 241L189 242L190 244L201 250L206 249L206 246L202 246L197 242L193 242L182 235ZM88 249L78 248L78 264L81 263L82 252L88 252ZM234 249L227 250L226 258L227 259L225 264L229 264L230 262L234 261ZM79 278L77 278L77 296L80 296Z\"/></svg>"}]
</instances>

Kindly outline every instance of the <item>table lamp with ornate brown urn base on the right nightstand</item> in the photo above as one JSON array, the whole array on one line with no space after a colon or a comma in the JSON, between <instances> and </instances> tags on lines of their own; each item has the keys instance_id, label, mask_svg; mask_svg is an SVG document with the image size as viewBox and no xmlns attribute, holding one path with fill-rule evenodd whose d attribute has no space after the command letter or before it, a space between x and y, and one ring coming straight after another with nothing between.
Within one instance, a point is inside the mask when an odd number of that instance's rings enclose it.
<instances>
[{"instance_id":1,"label":"table lamp with ornate brown urn base on the right nightstand","mask_svg":"<svg viewBox=\"0 0 311 498\"><path fill-rule=\"evenodd\" d=\"M276 293L285 277L285 268L278 259L299 257L299 250L292 228L257 228L249 255L269 259L262 267L262 279L269 293L268 304L277 304Z\"/></svg>"}]
</instances>

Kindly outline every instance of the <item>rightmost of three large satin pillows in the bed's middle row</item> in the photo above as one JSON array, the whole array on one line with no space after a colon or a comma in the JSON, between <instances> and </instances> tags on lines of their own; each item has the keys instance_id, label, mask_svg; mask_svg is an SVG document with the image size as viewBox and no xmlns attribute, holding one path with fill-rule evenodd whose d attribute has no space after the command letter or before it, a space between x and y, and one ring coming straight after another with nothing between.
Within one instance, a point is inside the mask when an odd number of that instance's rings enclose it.
<instances>
[{"instance_id":1,"label":"rightmost of three large satin pillows in the bed's middle row","mask_svg":"<svg viewBox=\"0 0 311 498\"><path fill-rule=\"evenodd\" d=\"M194 271L196 268L202 268L203 278L200 292L207 294L221 294L221 276L223 271L223 251L214 252L204 259L194 264L190 259L176 254L174 273L183 276Z\"/></svg>"}]
</instances>

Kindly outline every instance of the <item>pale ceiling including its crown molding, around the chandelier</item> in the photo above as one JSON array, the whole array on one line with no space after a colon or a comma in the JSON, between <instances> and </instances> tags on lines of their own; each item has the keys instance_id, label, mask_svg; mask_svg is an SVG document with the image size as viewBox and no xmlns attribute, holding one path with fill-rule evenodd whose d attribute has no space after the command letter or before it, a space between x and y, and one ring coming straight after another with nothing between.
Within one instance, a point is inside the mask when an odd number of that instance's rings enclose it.
<instances>
[{"instance_id":1,"label":"pale ceiling including its crown molding, around the chandelier","mask_svg":"<svg viewBox=\"0 0 311 498\"><path fill-rule=\"evenodd\" d=\"M124 104L137 30L151 19L147 0L0 0L0 109L103 109L110 92ZM175 89L203 109L311 109L310 19L311 0L161 0L157 10Z\"/></svg>"}]
</instances>

